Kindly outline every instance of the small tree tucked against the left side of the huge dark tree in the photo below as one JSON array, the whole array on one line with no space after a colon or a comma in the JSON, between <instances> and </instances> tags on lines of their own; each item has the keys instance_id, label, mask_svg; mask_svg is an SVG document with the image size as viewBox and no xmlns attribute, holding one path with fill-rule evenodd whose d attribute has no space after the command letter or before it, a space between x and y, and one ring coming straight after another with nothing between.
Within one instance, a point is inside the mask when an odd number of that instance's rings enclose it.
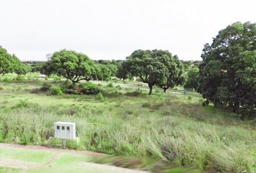
<instances>
[{"instance_id":1,"label":"small tree tucked against the left side of the huge dark tree","mask_svg":"<svg viewBox=\"0 0 256 173\"><path fill-rule=\"evenodd\" d=\"M184 88L197 90L199 68L193 67L187 70L187 82Z\"/></svg>"}]
</instances>

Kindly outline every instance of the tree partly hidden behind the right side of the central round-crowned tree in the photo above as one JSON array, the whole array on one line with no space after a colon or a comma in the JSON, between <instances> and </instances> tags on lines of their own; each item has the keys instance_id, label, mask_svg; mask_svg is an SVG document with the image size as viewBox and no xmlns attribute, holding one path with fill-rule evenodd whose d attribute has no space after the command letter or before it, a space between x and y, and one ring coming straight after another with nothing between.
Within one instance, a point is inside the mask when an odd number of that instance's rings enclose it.
<instances>
[{"instance_id":1,"label":"tree partly hidden behind the right side of the central round-crowned tree","mask_svg":"<svg viewBox=\"0 0 256 173\"><path fill-rule=\"evenodd\" d=\"M158 58L168 68L166 80L163 80L158 86L166 92L168 88L173 88L178 84L182 84L182 74L184 73L184 66L179 61L178 56L172 56L168 51L159 50Z\"/></svg>"}]
</instances>

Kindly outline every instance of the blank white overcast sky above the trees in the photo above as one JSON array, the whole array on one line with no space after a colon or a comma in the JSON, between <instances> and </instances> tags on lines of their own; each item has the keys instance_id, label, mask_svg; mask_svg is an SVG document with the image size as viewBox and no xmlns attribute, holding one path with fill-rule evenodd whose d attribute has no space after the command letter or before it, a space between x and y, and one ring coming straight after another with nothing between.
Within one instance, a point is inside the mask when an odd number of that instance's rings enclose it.
<instances>
[{"instance_id":1,"label":"blank white overcast sky above the trees","mask_svg":"<svg viewBox=\"0 0 256 173\"><path fill-rule=\"evenodd\" d=\"M205 43L234 22L256 22L255 0L0 0L0 45L22 61L61 49L94 60L169 50L201 60Z\"/></svg>"}]
</instances>

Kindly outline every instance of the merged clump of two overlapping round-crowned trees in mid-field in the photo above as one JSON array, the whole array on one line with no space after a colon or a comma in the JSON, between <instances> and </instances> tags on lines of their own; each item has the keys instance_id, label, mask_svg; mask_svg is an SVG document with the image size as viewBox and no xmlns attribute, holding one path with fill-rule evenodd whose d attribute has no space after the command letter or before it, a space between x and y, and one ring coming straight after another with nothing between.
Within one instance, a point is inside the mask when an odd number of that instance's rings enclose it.
<instances>
[{"instance_id":1,"label":"merged clump of two overlapping round-crowned trees in mid-field","mask_svg":"<svg viewBox=\"0 0 256 173\"><path fill-rule=\"evenodd\" d=\"M131 76L148 84L149 94L152 94L154 85L170 87L174 82L172 77L179 76L176 60L177 57L171 56L167 50L135 50L123 66Z\"/></svg>"}]
</instances>

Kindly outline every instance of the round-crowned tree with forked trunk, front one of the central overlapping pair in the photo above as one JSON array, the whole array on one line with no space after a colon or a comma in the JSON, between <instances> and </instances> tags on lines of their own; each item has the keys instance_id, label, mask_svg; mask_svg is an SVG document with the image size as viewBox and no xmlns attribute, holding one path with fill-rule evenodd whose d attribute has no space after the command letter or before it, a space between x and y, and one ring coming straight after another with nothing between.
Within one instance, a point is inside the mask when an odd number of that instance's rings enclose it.
<instances>
[{"instance_id":1,"label":"round-crowned tree with forked trunk, front one of the central overlapping pair","mask_svg":"<svg viewBox=\"0 0 256 173\"><path fill-rule=\"evenodd\" d=\"M135 50L124 61L127 72L131 76L138 76L142 82L148 84L149 95L152 94L155 84L162 84L167 80L168 68L161 61L163 50Z\"/></svg>"}]
</instances>

